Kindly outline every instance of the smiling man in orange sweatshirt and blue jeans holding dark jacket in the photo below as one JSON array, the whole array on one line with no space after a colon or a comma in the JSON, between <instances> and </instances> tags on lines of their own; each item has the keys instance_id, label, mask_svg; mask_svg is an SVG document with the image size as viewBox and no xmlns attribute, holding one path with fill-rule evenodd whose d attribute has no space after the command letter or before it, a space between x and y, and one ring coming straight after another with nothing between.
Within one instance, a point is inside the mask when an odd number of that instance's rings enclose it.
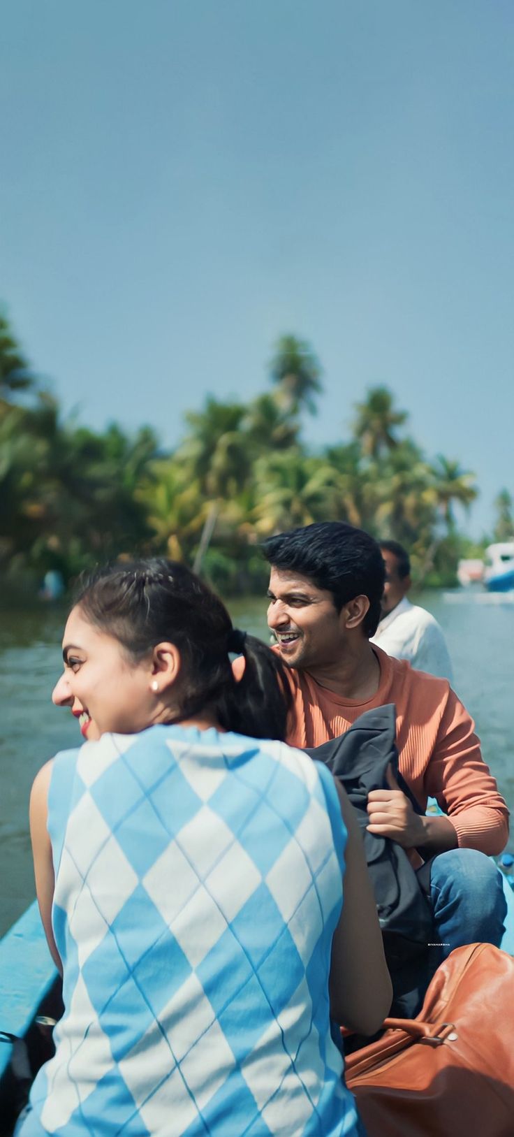
<instances>
[{"instance_id":1,"label":"smiling man in orange sweatshirt and blue jeans holding dark jacket","mask_svg":"<svg viewBox=\"0 0 514 1137\"><path fill-rule=\"evenodd\" d=\"M342 522L322 522L265 542L271 564L268 625L289 669L291 746L320 746L363 712L396 705L399 770L424 811L389 777L368 796L368 829L431 863L431 899L442 957L475 941L499 946L506 903L484 854L500 853L508 810L482 760L473 720L445 679L414 671L370 644L381 612L383 558L376 541ZM417 863L422 863L418 857Z\"/></svg>"}]
</instances>

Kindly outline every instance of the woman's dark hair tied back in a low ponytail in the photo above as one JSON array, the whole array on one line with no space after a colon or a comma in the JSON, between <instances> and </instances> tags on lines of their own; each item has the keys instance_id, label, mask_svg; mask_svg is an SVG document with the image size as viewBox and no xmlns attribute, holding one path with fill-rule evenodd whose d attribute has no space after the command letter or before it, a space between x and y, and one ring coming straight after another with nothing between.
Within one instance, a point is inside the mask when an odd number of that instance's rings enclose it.
<instances>
[{"instance_id":1,"label":"woman's dark hair tied back in a low ponytail","mask_svg":"<svg viewBox=\"0 0 514 1137\"><path fill-rule=\"evenodd\" d=\"M107 565L80 581L74 604L133 659L165 640L176 645L182 671L174 722L209 709L225 730L285 737L292 699L281 661L238 632L219 597L185 565L164 558ZM239 681L229 652L244 656Z\"/></svg>"}]
</instances>

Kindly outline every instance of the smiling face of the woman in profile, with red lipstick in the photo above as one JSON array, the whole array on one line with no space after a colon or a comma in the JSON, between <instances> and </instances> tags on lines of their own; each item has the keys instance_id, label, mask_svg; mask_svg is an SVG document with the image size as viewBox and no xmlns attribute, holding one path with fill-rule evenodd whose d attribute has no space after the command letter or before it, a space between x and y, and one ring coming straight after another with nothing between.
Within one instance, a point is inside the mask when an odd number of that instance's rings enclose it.
<instances>
[{"instance_id":1,"label":"smiling face of the woman in profile, with red lipstick","mask_svg":"<svg viewBox=\"0 0 514 1137\"><path fill-rule=\"evenodd\" d=\"M131 735L150 725L151 659L132 661L117 639L84 617L80 606L65 628L63 658L64 673L52 702L80 717L84 738L97 739L106 731Z\"/></svg>"}]
</instances>

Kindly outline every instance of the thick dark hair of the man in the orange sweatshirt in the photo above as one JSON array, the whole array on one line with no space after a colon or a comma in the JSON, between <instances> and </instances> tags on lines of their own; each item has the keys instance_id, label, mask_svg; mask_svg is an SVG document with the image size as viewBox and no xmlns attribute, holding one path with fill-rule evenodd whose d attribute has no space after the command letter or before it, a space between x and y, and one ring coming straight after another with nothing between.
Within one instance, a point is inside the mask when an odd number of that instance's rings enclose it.
<instances>
[{"instance_id":1,"label":"thick dark hair of the man in the orange sweatshirt","mask_svg":"<svg viewBox=\"0 0 514 1137\"><path fill-rule=\"evenodd\" d=\"M343 521L321 521L264 541L266 559L274 568L289 568L308 576L316 588L332 592L338 612L355 596L367 596L370 609L363 630L373 636L380 620L386 568L380 546Z\"/></svg>"}]
</instances>

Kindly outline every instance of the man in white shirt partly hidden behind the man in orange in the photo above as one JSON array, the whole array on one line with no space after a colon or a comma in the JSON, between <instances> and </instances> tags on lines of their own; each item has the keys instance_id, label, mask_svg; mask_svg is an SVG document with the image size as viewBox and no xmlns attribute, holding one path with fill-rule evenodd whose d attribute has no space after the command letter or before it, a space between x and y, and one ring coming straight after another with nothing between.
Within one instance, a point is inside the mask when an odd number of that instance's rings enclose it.
<instances>
[{"instance_id":1,"label":"man in white shirt partly hidden behind the man in orange","mask_svg":"<svg viewBox=\"0 0 514 1137\"><path fill-rule=\"evenodd\" d=\"M453 671L448 648L437 620L411 604L411 562L398 541L380 541L386 564L386 584L382 597L382 619L371 642L378 644L388 655L408 659L417 671L448 679Z\"/></svg>"}]
</instances>

